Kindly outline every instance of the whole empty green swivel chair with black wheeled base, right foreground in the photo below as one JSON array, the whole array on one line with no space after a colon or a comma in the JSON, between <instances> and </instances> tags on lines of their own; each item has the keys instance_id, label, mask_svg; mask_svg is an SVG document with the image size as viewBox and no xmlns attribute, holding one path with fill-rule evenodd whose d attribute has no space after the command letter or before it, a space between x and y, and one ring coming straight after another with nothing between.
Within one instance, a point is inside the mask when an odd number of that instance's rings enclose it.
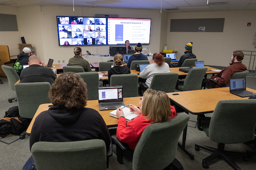
<instances>
[{"instance_id":1,"label":"whole empty green swivel chair with black wheeled base, right foreground","mask_svg":"<svg viewBox=\"0 0 256 170\"><path fill-rule=\"evenodd\" d=\"M195 144L195 150L200 147L213 152L203 159L203 167L208 168L208 162L220 158L236 170L240 168L229 156L243 156L238 153L224 150L225 144L238 144L253 139L256 124L256 99L221 100L216 105L212 117L201 118L201 127L210 140L218 142L218 148ZM224 167L222 169L225 169Z\"/></svg>"}]
</instances>

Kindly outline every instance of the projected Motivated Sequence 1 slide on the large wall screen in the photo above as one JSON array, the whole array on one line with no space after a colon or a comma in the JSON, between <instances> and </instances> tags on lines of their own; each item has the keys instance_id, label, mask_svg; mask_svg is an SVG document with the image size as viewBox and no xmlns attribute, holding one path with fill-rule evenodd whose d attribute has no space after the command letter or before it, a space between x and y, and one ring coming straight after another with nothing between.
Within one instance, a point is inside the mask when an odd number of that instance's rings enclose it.
<instances>
[{"instance_id":1,"label":"projected Motivated Sequence 1 slide on the large wall screen","mask_svg":"<svg viewBox=\"0 0 256 170\"><path fill-rule=\"evenodd\" d=\"M151 19L108 18L108 44L149 44Z\"/></svg>"}]
</instances>

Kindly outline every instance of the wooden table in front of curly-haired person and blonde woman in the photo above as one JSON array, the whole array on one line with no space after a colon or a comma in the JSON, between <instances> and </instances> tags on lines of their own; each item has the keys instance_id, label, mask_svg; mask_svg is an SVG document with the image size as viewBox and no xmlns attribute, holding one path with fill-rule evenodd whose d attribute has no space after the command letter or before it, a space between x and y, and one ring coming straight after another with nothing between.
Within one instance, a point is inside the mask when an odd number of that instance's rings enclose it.
<instances>
[{"instance_id":1,"label":"wooden table in front of curly-haired person and blonde woman","mask_svg":"<svg viewBox=\"0 0 256 170\"><path fill-rule=\"evenodd\" d=\"M124 98L124 104L128 105L128 104L133 104L136 105L137 107L139 106L139 102L141 101L141 96L139 97L125 97ZM35 118L42 112L42 111L47 111L49 109L49 105L52 105L51 103L46 103L46 104L41 104L38 107L38 110L36 111L31 123L29 124L29 127L26 130L26 133L30 134L31 130L32 130L32 126L35 122ZM102 116L102 118L104 119L106 125L108 127L116 127L117 126L117 122L118 119L114 118L112 116L110 116L110 112L113 110L106 110L106 111L100 111L99 110L99 100L88 100L87 101L87 108L93 108L96 111L99 112L99 114Z\"/></svg>"}]
</instances>

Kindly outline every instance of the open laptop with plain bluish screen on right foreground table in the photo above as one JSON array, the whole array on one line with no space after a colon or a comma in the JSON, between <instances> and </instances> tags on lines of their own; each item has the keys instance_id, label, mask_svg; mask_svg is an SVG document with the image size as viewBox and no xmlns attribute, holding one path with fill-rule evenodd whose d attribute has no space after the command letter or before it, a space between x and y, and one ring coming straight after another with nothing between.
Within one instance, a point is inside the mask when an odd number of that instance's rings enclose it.
<instances>
[{"instance_id":1,"label":"open laptop with plain bluish screen on right foreground table","mask_svg":"<svg viewBox=\"0 0 256 170\"><path fill-rule=\"evenodd\" d=\"M245 77L230 79L230 93L240 97L255 95L255 93L246 90Z\"/></svg>"}]
</instances>

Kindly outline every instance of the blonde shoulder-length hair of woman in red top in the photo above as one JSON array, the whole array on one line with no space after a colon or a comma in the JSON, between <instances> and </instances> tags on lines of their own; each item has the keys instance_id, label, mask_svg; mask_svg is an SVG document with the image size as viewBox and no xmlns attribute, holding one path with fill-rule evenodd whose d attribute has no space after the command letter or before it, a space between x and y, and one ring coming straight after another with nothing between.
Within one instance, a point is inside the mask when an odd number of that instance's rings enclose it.
<instances>
[{"instance_id":1,"label":"blonde shoulder-length hair of woman in red top","mask_svg":"<svg viewBox=\"0 0 256 170\"><path fill-rule=\"evenodd\" d=\"M148 89L144 92L142 114L151 123L166 122L172 115L169 96L163 91Z\"/></svg>"}]
</instances>

